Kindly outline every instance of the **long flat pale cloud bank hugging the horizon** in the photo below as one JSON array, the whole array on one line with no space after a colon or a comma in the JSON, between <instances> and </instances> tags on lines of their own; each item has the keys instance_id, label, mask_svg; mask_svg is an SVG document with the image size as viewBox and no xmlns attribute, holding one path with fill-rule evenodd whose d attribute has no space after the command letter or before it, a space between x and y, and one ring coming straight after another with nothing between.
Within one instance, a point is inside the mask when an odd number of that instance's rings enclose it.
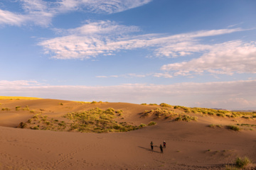
<instances>
[{"instance_id":1,"label":"long flat pale cloud bank hugging the horizon","mask_svg":"<svg viewBox=\"0 0 256 170\"><path fill-rule=\"evenodd\" d=\"M31 96L72 101L169 103L208 108L252 108L256 79L208 83L45 86L37 81L0 81L1 96ZM223 103L224 102L224 103Z\"/></svg>"}]
</instances>

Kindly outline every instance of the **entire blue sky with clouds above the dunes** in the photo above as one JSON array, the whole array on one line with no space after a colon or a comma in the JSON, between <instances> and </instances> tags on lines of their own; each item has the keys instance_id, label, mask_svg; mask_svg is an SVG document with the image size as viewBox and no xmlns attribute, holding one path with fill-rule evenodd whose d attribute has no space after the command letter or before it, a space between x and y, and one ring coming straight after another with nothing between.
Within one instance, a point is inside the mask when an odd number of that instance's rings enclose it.
<instances>
[{"instance_id":1,"label":"entire blue sky with clouds above the dunes","mask_svg":"<svg viewBox=\"0 0 256 170\"><path fill-rule=\"evenodd\" d=\"M256 109L255 0L1 0L0 96Z\"/></svg>"}]
</instances>

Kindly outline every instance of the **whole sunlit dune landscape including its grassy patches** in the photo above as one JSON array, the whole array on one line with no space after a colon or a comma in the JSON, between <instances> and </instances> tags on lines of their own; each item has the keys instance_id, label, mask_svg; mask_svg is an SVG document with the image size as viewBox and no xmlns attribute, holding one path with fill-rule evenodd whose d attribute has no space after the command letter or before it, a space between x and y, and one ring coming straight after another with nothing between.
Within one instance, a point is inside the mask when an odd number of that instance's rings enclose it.
<instances>
[{"instance_id":1,"label":"whole sunlit dune landscape including its grassy patches","mask_svg":"<svg viewBox=\"0 0 256 170\"><path fill-rule=\"evenodd\" d=\"M231 169L238 157L255 169L255 120L253 111L0 96L0 169Z\"/></svg>"}]
</instances>

